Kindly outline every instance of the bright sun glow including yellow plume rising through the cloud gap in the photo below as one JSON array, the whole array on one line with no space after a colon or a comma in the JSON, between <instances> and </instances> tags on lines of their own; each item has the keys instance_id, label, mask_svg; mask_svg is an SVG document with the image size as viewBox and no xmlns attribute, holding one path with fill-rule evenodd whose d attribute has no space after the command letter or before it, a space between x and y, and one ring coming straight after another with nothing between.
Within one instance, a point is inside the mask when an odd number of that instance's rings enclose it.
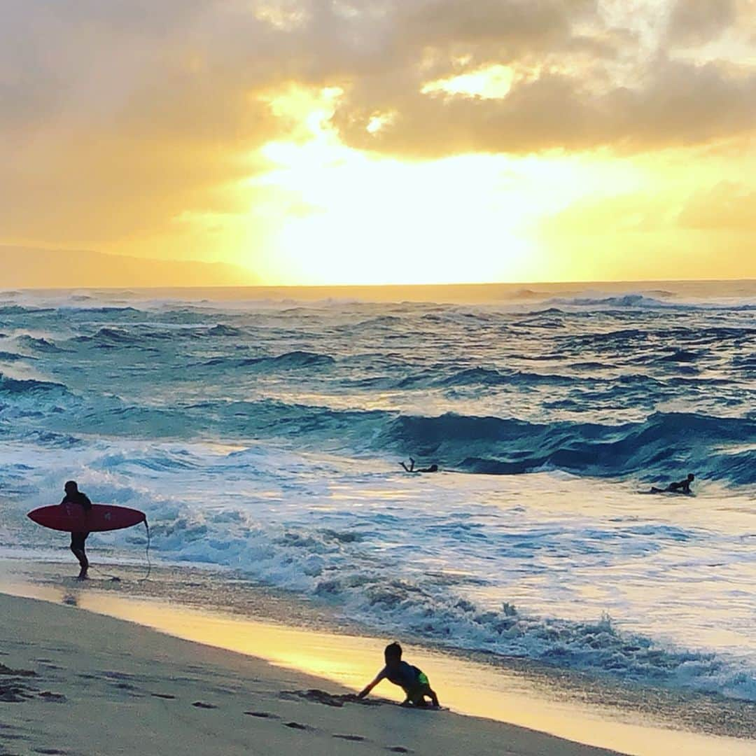
<instances>
[{"instance_id":1,"label":"bright sun glow including yellow plume rising through the cloud gap","mask_svg":"<svg viewBox=\"0 0 756 756\"><path fill-rule=\"evenodd\" d=\"M527 280L541 255L538 221L606 183L596 166L564 156L370 156L330 125L341 95L297 89L271 99L274 112L301 125L296 139L262 147L271 169L248 182L277 198L265 212L276 226L262 256L271 282Z\"/></svg>"}]
</instances>

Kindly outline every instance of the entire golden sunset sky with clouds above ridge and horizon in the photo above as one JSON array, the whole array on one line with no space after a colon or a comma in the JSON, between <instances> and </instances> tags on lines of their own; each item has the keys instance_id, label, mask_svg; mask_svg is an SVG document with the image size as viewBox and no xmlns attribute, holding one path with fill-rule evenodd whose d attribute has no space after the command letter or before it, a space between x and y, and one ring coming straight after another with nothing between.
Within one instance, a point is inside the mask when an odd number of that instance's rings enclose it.
<instances>
[{"instance_id":1,"label":"entire golden sunset sky with clouds above ridge and horizon","mask_svg":"<svg viewBox=\"0 0 756 756\"><path fill-rule=\"evenodd\" d=\"M756 0L0 13L2 245L276 284L756 277Z\"/></svg>"}]
</instances>

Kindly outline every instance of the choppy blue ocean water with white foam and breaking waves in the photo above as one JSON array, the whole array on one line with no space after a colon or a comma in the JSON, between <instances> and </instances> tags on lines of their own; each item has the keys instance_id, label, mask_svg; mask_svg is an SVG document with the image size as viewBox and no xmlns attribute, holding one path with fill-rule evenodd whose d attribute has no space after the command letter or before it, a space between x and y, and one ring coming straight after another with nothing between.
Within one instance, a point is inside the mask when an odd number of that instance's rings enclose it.
<instances>
[{"instance_id":1,"label":"choppy blue ocean water with white foam and breaking waves","mask_svg":"<svg viewBox=\"0 0 756 756\"><path fill-rule=\"evenodd\" d=\"M0 547L75 478L386 634L756 700L756 284L541 289L0 293Z\"/></svg>"}]
</instances>

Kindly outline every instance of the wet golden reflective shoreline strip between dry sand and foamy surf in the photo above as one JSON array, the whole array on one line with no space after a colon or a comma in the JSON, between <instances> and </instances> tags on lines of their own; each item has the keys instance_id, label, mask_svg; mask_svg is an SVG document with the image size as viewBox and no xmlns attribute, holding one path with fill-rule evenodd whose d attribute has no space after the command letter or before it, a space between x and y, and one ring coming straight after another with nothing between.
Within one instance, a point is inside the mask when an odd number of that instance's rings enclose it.
<instances>
[{"instance_id":1,"label":"wet golden reflective shoreline strip between dry sand and foamy surf","mask_svg":"<svg viewBox=\"0 0 756 756\"><path fill-rule=\"evenodd\" d=\"M150 595L149 589L141 590L144 586L140 587L128 579L121 584L91 581L82 585L61 578L60 568L65 570L68 565L34 565L31 577L29 573L19 575L20 571L14 569L19 566L11 563L9 569L8 562L5 562L0 590L37 596L53 603L76 603L88 612L136 621L174 637L255 655L277 665L276 669L294 670L296 674L317 674L320 689L332 689L333 686L339 686L339 689L360 688L375 674L380 662L380 649L385 642L385 639L366 637L364 628L356 626L339 628L342 632L336 634L333 618L329 619L326 612L318 617L317 610L307 606L305 601L297 606L297 602L290 597L277 596L249 586L243 591L231 587L231 593L234 593L238 603L237 606L231 603L224 612L218 606L224 603L223 597L217 594L215 599L218 603L215 606L206 605L200 609L195 603L192 608L186 601L186 595L183 600L182 596L175 594L156 595L157 592L153 591ZM125 568L119 569L123 571ZM161 588L165 587L166 582L169 584L170 572L170 569L157 568L153 573L158 579L156 584L160 584ZM191 575L188 581L191 593L195 600L200 597L200 603L202 596L212 595L217 590L217 586L215 589L209 587L214 579L217 580L217 575L181 569L181 575L185 577L187 573ZM203 581L207 581L207 585L203 585ZM226 588L228 590L228 586ZM166 593L170 593L170 590ZM245 596L254 596L256 606L250 606L249 601L245 603ZM280 638L287 638L284 646L288 646L288 650L284 649L285 652L275 648L275 640ZM631 754L652 754L658 752L662 745L665 748L684 748L689 754L745 754L752 752L754 747L751 739L722 737L721 732L714 736L670 729L685 727L686 722L652 716L652 712L663 711L670 704L670 696L665 692L661 692L656 699L646 700L644 706L634 707L631 705L632 697L612 702L612 696L608 696L605 687L598 685L590 689L583 685L581 689L579 686L576 688L575 680L555 674L556 671L539 677L534 665L530 664L514 664L511 668L504 668L483 664L480 659L476 660L474 654L462 658L427 645L404 643L404 639L402 643L407 649L406 658L411 663L419 664L431 677L442 704L450 705L453 711L468 717L511 722L510 727L524 726ZM294 658L290 653L292 649L297 649ZM391 688L386 686L380 689L380 696L392 696ZM485 695L481 696L481 692ZM580 698L582 701L578 700ZM636 696L635 701L639 700ZM685 697L677 702L677 714L687 711L689 719L701 720L699 724L703 722L705 727L706 712L701 705L707 700L705 696ZM714 706L714 709L717 707ZM733 707L733 711L737 709L737 706ZM746 705L745 710L743 716L747 717L753 707ZM717 711L711 711L708 715L715 719ZM732 712L730 716L735 717ZM687 722L691 723L690 720ZM728 727L733 723L737 730L737 717L729 723L723 722ZM627 745L627 748L623 748L623 745Z\"/></svg>"}]
</instances>

